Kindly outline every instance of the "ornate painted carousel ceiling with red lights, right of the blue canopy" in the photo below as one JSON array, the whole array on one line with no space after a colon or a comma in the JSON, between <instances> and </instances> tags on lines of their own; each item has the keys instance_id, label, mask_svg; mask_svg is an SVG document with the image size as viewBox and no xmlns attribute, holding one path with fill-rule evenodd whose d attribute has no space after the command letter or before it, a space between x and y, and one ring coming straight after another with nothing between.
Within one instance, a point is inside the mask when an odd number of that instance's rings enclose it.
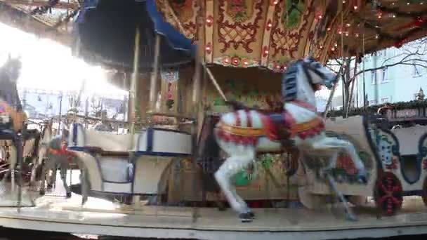
<instances>
[{"instance_id":1,"label":"ornate painted carousel ceiling with red lights, right of the blue canopy","mask_svg":"<svg viewBox=\"0 0 427 240\"><path fill-rule=\"evenodd\" d=\"M201 46L206 63L268 67L313 55L362 55L427 34L427 1L157 0L175 29ZM362 40L364 39L364 40Z\"/></svg>"}]
</instances>

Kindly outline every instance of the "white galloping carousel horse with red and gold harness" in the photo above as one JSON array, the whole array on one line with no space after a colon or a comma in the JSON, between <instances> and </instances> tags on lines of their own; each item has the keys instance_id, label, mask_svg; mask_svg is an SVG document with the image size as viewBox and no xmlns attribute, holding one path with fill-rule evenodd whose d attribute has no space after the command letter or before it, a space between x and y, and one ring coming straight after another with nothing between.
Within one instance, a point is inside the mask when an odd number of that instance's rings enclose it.
<instances>
[{"instance_id":1,"label":"white galloping carousel horse with red and gold harness","mask_svg":"<svg viewBox=\"0 0 427 240\"><path fill-rule=\"evenodd\" d=\"M306 58L295 62L284 74L282 94L285 102L282 113L264 114L237 102L228 102L236 112L221 116L214 135L218 145L229 156L216 171L215 178L242 222L251 222L254 213L236 193L235 186L230 184L231 178L254 161L257 153L282 152L289 142L303 155L322 153L331 157L325 173L332 189L341 199L343 196L336 189L336 182L328 174L336 165L339 152L345 151L351 156L358 170L357 178L366 183L364 164L355 147L346 140L327 137L324 119L316 112L315 91L322 85L331 88L334 81L335 74L313 58ZM280 135L280 131L286 132ZM347 217L356 220L345 201L343 204Z\"/></svg>"}]
</instances>

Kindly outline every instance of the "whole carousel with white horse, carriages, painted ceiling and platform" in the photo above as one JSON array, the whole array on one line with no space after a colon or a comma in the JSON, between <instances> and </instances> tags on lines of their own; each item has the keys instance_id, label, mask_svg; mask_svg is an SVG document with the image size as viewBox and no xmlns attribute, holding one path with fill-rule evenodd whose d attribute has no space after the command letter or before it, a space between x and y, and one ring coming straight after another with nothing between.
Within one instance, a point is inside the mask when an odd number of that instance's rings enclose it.
<instances>
[{"instance_id":1,"label":"whole carousel with white horse, carriages, painted ceiling and platform","mask_svg":"<svg viewBox=\"0 0 427 240\"><path fill-rule=\"evenodd\" d=\"M129 91L128 118L68 112L56 136L46 121L26 184L27 119L5 100L1 140L13 154L1 156L19 181L2 184L3 227L160 239L427 234L427 129L390 130L381 114L327 118L315 100L328 88L330 103L350 71L327 61L362 61L426 36L427 2L74 8L73 53L111 69ZM129 131L88 128L88 119Z\"/></svg>"}]
</instances>

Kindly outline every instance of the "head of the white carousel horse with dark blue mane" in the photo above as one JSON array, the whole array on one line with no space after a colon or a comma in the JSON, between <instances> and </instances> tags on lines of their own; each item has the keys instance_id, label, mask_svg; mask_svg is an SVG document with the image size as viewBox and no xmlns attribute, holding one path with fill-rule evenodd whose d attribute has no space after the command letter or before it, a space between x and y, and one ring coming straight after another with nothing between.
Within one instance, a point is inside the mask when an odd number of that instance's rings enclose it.
<instances>
[{"instance_id":1,"label":"head of the white carousel horse with dark blue mane","mask_svg":"<svg viewBox=\"0 0 427 240\"><path fill-rule=\"evenodd\" d=\"M301 60L301 66L314 91L320 90L321 86L331 89L338 80L334 72L324 67L324 65L312 57Z\"/></svg>"}]
</instances>

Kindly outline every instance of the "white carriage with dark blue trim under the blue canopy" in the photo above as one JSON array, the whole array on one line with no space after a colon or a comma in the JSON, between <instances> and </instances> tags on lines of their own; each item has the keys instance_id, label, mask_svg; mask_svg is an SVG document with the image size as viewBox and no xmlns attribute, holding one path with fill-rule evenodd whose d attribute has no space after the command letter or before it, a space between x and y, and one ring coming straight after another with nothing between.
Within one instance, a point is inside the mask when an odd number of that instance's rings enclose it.
<instances>
[{"instance_id":1,"label":"white carriage with dark blue trim under the blue canopy","mask_svg":"<svg viewBox=\"0 0 427 240\"><path fill-rule=\"evenodd\" d=\"M147 128L134 135L116 134L73 124L70 132L68 149L82 164L82 189L88 183L94 192L164 194L165 171L173 159L192 155L192 137L183 131Z\"/></svg>"}]
</instances>

